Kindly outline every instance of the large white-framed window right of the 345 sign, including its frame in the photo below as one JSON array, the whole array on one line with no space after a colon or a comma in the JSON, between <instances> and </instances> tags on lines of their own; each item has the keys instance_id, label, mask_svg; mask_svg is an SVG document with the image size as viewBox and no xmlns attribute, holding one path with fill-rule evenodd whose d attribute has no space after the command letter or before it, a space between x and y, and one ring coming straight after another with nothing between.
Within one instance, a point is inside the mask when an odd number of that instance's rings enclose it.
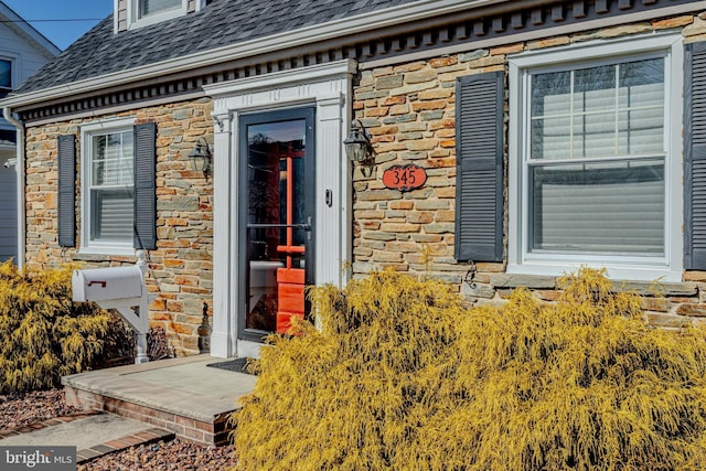
<instances>
[{"instance_id":1,"label":"large white-framed window right of the 345 sign, including its frame","mask_svg":"<svg viewBox=\"0 0 706 471\"><path fill-rule=\"evenodd\" d=\"M509 271L681 279L681 71L672 35L511 60Z\"/></svg>"}]
</instances>

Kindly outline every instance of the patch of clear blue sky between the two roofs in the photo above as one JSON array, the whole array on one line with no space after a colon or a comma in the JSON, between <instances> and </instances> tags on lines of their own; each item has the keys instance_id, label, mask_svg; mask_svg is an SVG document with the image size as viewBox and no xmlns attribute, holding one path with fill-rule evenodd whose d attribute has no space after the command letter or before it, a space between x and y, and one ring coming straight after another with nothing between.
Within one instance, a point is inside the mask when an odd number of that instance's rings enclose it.
<instances>
[{"instance_id":1,"label":"patch of clear blue sky between the two roofs","mask_svg":"<svg viewBox=\"0 0 706 471\"><path fill-rule=\"evenodd\" d=\"M62 51L113 11L113 0L2 0Z\"/></svg>"}]
</instances>

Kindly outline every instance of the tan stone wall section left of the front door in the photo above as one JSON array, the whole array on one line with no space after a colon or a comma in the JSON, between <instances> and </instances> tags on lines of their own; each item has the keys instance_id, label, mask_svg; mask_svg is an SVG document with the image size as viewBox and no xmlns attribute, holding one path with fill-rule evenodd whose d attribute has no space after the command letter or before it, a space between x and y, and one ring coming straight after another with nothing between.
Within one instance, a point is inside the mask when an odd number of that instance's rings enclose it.
<instances>
[{"instance_id":1,"label":"tan stone wall section left of the front door","mask_svg":"<svg viewBox=\"0 0 706 471\"><path fill-rule=\"evenodd\" d=\"M135 257L79 254L79 126L110 118L157 124L157 250L149 253L150 325L162 327L179 355L199 353L204 307L211 315L213 288L213 180L191 169L188 154L197 138L213 142L210 98L148 107L26 129L26 265L79 261L84 267L133 264ZM76 248L57 244L56 138L76 136Z\"/></svg>"}]
</instances>

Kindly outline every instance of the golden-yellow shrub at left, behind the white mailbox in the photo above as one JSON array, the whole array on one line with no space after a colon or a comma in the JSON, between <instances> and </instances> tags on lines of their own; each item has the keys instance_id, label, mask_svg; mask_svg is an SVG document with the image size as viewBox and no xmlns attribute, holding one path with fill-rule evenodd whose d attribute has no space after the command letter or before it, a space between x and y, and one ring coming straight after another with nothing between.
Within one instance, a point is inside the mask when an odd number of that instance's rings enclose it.
<instances>
[{"instance_id":1,"label":"golden-yellow shrub at left, behind the white mailbox","mask_svg":"<svg viewBox=\"0 0 706 471\"><path fill-rule=\"evenodd\" d=\"M124 325L72 301L72 266L42 271L0 265L0 394L57 387L61 376L108 362L106 339Z\"/></svg>"}]
</instances>

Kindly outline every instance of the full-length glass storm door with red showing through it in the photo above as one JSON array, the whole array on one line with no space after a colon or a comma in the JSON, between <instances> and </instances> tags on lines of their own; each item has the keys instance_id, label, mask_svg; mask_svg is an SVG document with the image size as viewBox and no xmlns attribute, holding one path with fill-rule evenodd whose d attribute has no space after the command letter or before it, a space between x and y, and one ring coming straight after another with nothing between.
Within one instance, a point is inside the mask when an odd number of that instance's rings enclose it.
<instances>
[{"instance_id":1,"label":"full-length glass storm door with red showing through it","mask_svg":"<svg viewBox=\"0 0 706 471\"><path fill-rule=\"evenodd\" d=\"M239 119L240 339L286 333L313 283L313 108Z\"/></svg>"}]
</instances>

